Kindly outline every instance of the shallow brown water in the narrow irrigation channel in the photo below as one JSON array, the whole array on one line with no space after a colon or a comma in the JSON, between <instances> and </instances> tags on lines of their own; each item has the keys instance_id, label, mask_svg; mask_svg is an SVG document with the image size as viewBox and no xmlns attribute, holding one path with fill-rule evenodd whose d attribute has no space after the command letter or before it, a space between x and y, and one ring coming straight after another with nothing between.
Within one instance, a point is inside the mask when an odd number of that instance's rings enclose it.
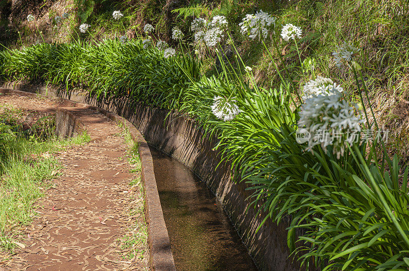
<instances>
[{"instance_id":1,"label":"shallow brown water in the narrow irrigation channel","mask_svg":"<svg viewBox=\"0 0 409 271\"><path fill-rule=\"evenodd\" d=\"M206 185L175 159L150 151L177 270L257 270Z\"/></svg>"}]
</instances>

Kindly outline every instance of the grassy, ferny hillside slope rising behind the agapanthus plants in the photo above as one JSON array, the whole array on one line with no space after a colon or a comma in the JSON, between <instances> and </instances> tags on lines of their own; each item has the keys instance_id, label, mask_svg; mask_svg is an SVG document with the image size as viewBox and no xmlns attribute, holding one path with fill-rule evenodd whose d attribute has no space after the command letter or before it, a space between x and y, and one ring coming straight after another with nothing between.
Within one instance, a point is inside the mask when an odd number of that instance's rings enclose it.
<instances>
[{"instance_id":1,"label":"grassy, ferny hillside slope rising behind the agapanthus plants","mask_svg":"<svg viewBox=\"0 0 409 271\"><path fill-rule=\"evenodd\" d=\"M70 0L25 2L12 4L3 0L0 5L0 43L9 48L46 41L101 40L126 35L128 38L146 36L145 24L152 24L156 32L150 36L177 46L171 39L171 30L179 27L186 35L185 41L193 46L190 24L194 17L211 18L224 15L229 22L228 33L245 65L253 68L256 81L266 87L278 87L279 77L268 54L260 42L245 39L238 27L247 13L257 10L277 16L277 24L293 23L303 29L300 40L300 58L297 49L280 39L280 52L267 43L268 50L282 72L291 72L294 82L302 87L316 75L335 79L348 88L351 99L357 100L354 76L346 66L337 67L332 58L336 46L345 40L361 49L359 61L366 67L364 76L370 90L375 116L391 130L391 150L404 146L409 151L405 117L409 87L409 4L404 0L300 0L300 1L103 1ZM121 10L121 20L112 19L112 12ZM56 16L62 17L60 22ZM27 21L33 14L35 20ZM87 33L79 32L79 25L87 23ZM18 33L19 32L19 33ZM41 32L41 33L40 33ZM279 33L278 33L279 34ZM230 61L234 53L229 44L222 44ZM217 75L214 64L218 62L212 50L199 50L203 70L207 75ZM283 57L283 64L279 55ZM1 63L0 63L1 65Z\"/></svg>"}]
</instances>

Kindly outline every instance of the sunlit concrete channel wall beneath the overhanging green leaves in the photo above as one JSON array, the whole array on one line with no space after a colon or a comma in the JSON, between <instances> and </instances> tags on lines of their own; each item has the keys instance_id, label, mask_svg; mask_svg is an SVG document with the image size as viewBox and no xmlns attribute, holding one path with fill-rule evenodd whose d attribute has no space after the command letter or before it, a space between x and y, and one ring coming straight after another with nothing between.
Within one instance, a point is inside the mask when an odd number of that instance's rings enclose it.
<instances>
[{"instance_id":1,"label":"sunlit concrete channel wall beneath the overhanging green leaves","mask_svg":"<svg viewBox=\"0 0 409 271\"><path fill-rule=\"evenodd\" d=\"M215 138L203 136L203 130L194 120L178 112L143 106L123 98L96 99L87 93L67 93L64 89L13 83L4 84L3 87L87 103L124 117L137 127L149 145L185 164L207 184L220 200L260 269L301 269L289 257L286 231L289 221L277 225L267 220L256 232L262 218L256 216L253 208L247 209L247 197L251 191L245 190L245 184L236 184L231 179L228 165L219 165L220 154L213 150Z\"/></svg>"}]
</instances>

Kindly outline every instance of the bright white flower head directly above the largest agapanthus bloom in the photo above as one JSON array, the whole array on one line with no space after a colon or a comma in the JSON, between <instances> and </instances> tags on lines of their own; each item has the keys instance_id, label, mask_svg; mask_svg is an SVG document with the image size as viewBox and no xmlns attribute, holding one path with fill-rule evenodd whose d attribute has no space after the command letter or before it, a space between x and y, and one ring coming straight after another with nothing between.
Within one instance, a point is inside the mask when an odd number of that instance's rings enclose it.
<instances>
[{"instance_id":1,"label":"bright white flower head directly above the largest agapanthus bloom","mask_svg":"<svg viewBox=\"0 0 409 271\"><path fill-rule=\"evenodd\" d=\"M317 76L315 80L310 80L304 85L304 100L317 96L338 95L344 89L334 83L330 78Z\"/></svg>"}]
</instances>

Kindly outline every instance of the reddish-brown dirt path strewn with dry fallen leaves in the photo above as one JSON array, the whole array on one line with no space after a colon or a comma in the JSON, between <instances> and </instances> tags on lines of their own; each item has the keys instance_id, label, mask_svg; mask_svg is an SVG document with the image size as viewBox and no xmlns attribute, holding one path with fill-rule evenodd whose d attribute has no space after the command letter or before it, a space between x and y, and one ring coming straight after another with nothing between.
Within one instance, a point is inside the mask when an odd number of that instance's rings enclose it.
<instances>
[{"instance_id":1,"label":"reddish-brown dirt path strewn with dry fallen leaves","mask_svg":"<svg viewBox=\"0 0 409 271\"><path fill-rule=\"evenodd\" d=\"M1 92L1 91L0 91ZM44 98L16 94L0 95L1 103L37 112L54 111L58 103ZM129 210L143 208L138 187L130 180L127 145L121 129L91 110L81 112L92 141L56 153L63 165L55 185L44 191L38 202L39 215L22 228L21 240L10 260L0 262L2 270L138 270L147 266L147 253L124 260L121 242L135 219ZM134 249L134 248L133 248ZM141 247L146 251L145 247ZM4 255L3 255L4 257ZM144 259L141 259L144 258ZM4 259L4 258L3 258Z\"/></svg>"}]
</instances>

